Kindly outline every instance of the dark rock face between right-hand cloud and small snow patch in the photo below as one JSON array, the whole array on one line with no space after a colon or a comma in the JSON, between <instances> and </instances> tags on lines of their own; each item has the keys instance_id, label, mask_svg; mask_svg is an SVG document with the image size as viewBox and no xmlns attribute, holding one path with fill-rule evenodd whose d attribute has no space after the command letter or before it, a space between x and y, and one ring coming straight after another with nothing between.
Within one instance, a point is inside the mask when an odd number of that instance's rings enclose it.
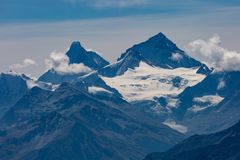
<instances>
[{"instance_id":1,"label":"dark rock face between right-hand cloud and small snow patch","mask_svg":"<svg viewBox=\"0 0 240 160\"><path fill-rule=\"evenodd\" d=\"M240 90L240 72L216 72L208 75L202 82L186 88L178 97L181 112L184 114L189 108L196 105L194 98L203 96L227 97Z\"/></svg>"}]
</instances>

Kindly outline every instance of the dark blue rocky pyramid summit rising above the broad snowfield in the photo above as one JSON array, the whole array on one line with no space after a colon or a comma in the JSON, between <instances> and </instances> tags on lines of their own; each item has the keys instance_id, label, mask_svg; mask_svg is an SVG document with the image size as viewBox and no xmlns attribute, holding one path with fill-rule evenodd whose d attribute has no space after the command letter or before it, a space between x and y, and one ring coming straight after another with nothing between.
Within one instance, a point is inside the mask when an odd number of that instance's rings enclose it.
<instances>
[{"instance_id":1,"label":"dark blue rocky pyramid summit rising above the broad snowfield","mask_svg":"<svg viewBox=\"0 0 240 160\"><path fill-rule=\"evenodd\" d=\"M131 57L135 57L137 56L137 54L133 54L135 52L140 53L141 61L162 68L191 68L202 66L201 62L188 56L162 32L127 49L118 60L129 58L129 54L132 55Z\"/></svg>"}]
</instances>

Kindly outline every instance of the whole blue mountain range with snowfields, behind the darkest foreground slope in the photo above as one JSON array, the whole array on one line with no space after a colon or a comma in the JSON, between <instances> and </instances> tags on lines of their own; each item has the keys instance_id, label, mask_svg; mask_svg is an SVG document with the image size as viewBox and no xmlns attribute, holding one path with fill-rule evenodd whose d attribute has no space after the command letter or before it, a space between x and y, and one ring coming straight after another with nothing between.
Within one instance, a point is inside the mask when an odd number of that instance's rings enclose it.
<instances>
[{"instance_id":1,"label":"whole blue mountain range with snowfields, behind the darkest foreground slope","mask_svg":"<svg viewBox=\"0 0 240 160\"><path fill-rule=\"evenodd\" d=\"M167 149L199 140L186 137L210 134L215 144L213 133L239 121L240 72L209 68L163 33L114 63L77 41L65 56L90 71L0 75L1 159L174 159L184 154Z\"/></svg>"}]
</instances>

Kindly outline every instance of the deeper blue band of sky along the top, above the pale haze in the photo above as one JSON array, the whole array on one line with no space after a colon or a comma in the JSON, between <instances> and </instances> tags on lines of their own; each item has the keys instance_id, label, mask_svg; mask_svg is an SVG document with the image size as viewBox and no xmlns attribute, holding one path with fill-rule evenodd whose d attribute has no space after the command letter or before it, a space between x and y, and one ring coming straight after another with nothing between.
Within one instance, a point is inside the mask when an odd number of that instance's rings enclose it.
<instances>
[{"instance_id":1,"label":"deeper blue band of sky along the top, above the pale haze","mask_svg":"<svg viewBox=\"0 0 240 160\"><path fill-rule=\"evenodd\" d=\"M237 0L1 0L0 22L50 22L146 14L197 14Z\"/></svg>"}]
</instances>

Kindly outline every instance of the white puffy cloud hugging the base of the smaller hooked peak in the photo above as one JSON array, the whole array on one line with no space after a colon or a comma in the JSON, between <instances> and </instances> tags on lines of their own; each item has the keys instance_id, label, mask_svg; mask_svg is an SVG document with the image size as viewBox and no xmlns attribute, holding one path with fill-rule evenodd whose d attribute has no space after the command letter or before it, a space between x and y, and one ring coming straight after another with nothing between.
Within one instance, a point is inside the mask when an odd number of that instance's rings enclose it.
<instances>
[{"instance_id":1,"label":"white puffy cloud hugging the base of the smaller hooked peak","mask_svg":"<svg viewBox=\"0 0 240 160\"><path fill-rule=\"evenodd\" d=\"M69 64L68 57L63 53L52 52L45 60L48 69L54 69L60 74L89 73L91 69L82 63Z\"/></svg>"}]
</instances>

